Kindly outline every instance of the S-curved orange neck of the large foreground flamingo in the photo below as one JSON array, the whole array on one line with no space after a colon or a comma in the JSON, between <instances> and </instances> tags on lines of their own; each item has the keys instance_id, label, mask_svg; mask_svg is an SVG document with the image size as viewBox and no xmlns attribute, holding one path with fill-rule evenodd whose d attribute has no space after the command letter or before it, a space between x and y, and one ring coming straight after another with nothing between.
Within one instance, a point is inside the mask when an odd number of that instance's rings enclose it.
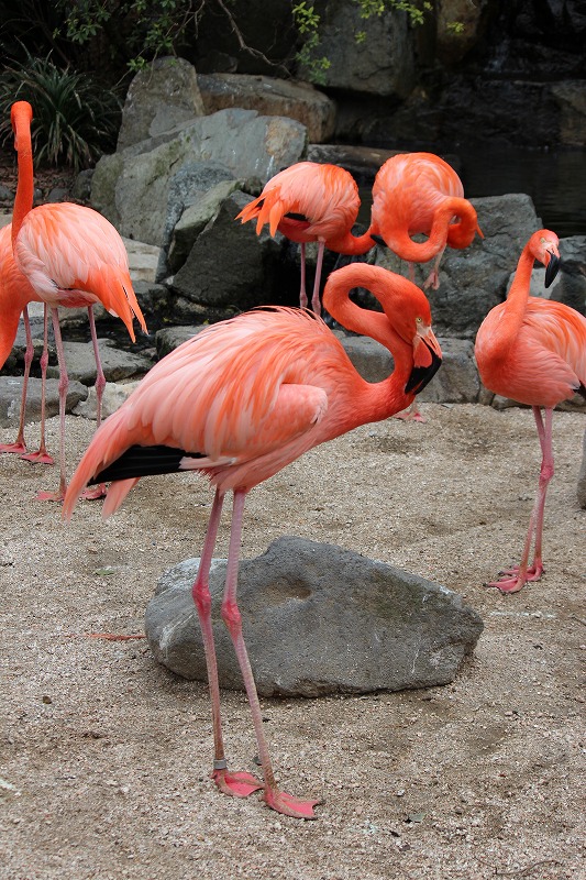
<instances>
[{"instance_id":1,"label":"S-curved orange neck of the large foreground flamingo","mask_svg":"<svg viewBox=\"0 0 586 880\"><path fill-rule=\"evenodd\" d=\"M379 342L390 352L395 362L395 370L390 376L371 386L373 397L369 415L367 419L362 419L364 414L361 414L358 424L362 424L363 420L376 421L387 418L389 415L405 409L414 398L412 393L406 394L405 392L413 367L412 345L401 339L388 317L392 315L394 308L399 308L394 287L395 285L400 287L403 283L410 285L407 278L391 275L378 266L357 263L330 275L323 292L323 306L332 318L346 330L371 337ZM356 306L350 299L350 292L355 287L366 287L380 302L384 312Z\"/></svg>"}]
</instances>

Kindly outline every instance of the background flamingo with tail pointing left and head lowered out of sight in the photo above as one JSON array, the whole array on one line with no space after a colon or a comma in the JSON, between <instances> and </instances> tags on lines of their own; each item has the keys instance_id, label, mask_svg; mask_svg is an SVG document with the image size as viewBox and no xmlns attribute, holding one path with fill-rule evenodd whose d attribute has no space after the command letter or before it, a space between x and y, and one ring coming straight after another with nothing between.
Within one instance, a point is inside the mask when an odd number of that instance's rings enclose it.
<instances>
[{"instance_id":1,"label":"background flamingo with tail pointing left and head lowered out of sight","mask_svg":"<svg viewBox=\"0 0 586 880\"><path fill-rule=\"evenodd\" d=\"M256 220L256 233L268 223L272 235L278 230L301 245L301 287L299 304L308 305L306 293L306 244L318 242L318 262L311 308L320 315L320 280L323 251L364 254L374 248L369 231L352 234L361 199L354 177L338 165L298 162L267 183L257 199L246 205L236 220Z\"/></svg>"}]
</instances>

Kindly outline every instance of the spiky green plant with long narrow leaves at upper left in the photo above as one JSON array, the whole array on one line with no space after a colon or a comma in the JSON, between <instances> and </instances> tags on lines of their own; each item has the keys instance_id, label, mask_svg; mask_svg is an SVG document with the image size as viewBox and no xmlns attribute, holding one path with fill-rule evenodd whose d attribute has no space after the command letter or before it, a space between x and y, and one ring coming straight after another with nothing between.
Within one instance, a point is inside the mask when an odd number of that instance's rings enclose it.
<instances>
[{"instance_id":1,"label":"spiky green plant with long narrow leaves at upper left","mask_svg":"<svg viewBox=\"0 0 586 880\"><path fill-rule=\"evenodd\" d=\"M87 74L57 67L49 56L13 62L0 73L0 141L10 142L10 107L29 101L33 108L35 161L68 165L75 172L90 167L115 145L121 105Z\"/></svg>"}]
</instances>

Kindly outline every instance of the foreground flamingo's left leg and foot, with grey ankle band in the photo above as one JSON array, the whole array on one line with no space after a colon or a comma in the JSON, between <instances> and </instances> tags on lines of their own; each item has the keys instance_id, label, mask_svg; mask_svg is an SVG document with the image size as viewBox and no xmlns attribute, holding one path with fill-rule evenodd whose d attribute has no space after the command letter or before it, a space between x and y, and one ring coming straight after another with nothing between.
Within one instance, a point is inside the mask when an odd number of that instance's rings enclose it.
<instances>
[{"instance_id":1,"label":"foreground flamingo's left leg and foot, with grey ankle band","mask_svg":"<svg viewBox=\"0 0 586 880\"><path fill-rule=\"evenodd\" d=\"M251 773L229 773L228 762L224 755L222 739L222 722L220 714L220 685L218 681L218 662L215 659L215 647L213 642L213 629L211 625L211 597L209 587L210 565L213 556L213 547L220 525L222 513L223 495L215 493L213 506L208 524L203 551L199 563L198 574L192 586L194 602L199 616L201 635L203 638L203 650L206 653L206 666L208 669L208 686L210 689L211 715L213 727L213 773L212 779L224 794L232 794L236 798L246 798L254 791L263 788Z\"/></svg>"}]
</instances>

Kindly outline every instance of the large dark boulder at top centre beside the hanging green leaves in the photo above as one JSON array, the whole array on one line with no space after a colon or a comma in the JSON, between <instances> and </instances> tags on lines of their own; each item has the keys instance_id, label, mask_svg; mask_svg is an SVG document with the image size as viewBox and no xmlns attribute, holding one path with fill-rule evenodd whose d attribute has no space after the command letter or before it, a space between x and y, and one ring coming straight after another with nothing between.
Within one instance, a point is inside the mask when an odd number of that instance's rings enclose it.
<instances>
[{"instance_id":1,"label":"large dark boulder at top centre beside the hanging green leaves","mask_svg":"<svg viewBox=\"0 0 586 880\"><path fill-rule=\"evenodd\" d=\"M330 62L324 72L329 88L385 98L409 95L416 85L414 40L405 12L386 10L363 19L357 4L345 0L313 6L321 16L319 54ZM365 34L360 42L358 32Z\"/></svg>"}]
</instances>

